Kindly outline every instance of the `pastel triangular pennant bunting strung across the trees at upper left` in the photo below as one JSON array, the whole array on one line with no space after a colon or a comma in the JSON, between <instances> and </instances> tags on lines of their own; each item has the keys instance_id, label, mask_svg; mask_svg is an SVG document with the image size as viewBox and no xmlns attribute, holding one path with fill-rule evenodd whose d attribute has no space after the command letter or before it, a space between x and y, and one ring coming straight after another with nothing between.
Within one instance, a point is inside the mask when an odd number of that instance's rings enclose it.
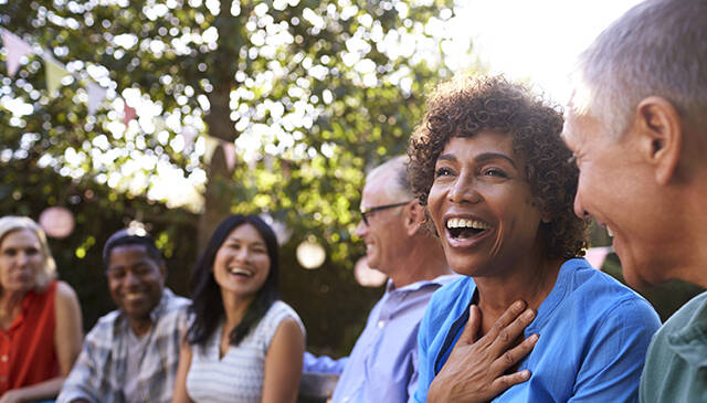
<instances>
[{"instance_id":1,"label":"pastel triangular pennant bunting strung across the trees at upper left","mask_svg":"<svg viewBox=\"0 0 707 403\"><path fill-rule=\"evenodd\" d=\"M88 95L88 115L96 114L98 107L107 96L107 92L104 87L102 87L91 78L81 77L77 73L70 72L64 66L64 64L56 61L49 51L42 50L41 52L36 52L31 44L27 43L20 36L2 26L0 26L0 38L2 38L2 45L6 50L7 71L10 77L13 77L20 70L23 57L35 54L44 62L44 71L46 74L46 89L50 95L59 92L62 85L62 79L65 76L72 75L77 82L84 84L86 94ZM117 96L123 99L123 123L127 127L130 120L137 119L137 110L134 107L129 106L125 98L120 97L119 95ZM183 130L183 132L181 132L181 136L184 140L183 152L187 152L191 149L197 134L193 130ZM233 144L233 141L225 141L211 136L204 136L204 160L207 163L209 163L213 152L218 149L218 147L221 146L229 170L232 170L235 167L235 145Z\"/></svg>"}]
</instances>

